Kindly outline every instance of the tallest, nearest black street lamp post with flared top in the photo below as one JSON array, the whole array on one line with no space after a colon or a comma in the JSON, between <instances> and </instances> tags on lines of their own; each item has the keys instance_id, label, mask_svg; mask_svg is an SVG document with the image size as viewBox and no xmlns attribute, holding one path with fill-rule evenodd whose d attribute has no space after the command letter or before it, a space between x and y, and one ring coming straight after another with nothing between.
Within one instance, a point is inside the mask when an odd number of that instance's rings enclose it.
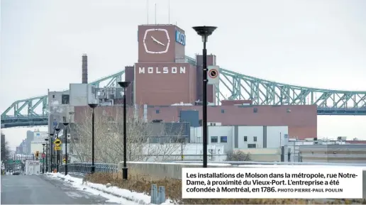
<instances>
[{"instance_id":1,"label":"tallest, nearest black street lamp post with flared top","mask_svg":"<svg viewBox=\"0 0 366 205\"><path fill-rule=\"evenodd\" d=\"M209 35L211 35L217 27L215 26L195 26L192 27L198 35L201 35L204 42L203 50L203 107L202 107L202 134L204 137L204 167L207 167L207 50L206 43Z\"/></svg>"}]
</instances>

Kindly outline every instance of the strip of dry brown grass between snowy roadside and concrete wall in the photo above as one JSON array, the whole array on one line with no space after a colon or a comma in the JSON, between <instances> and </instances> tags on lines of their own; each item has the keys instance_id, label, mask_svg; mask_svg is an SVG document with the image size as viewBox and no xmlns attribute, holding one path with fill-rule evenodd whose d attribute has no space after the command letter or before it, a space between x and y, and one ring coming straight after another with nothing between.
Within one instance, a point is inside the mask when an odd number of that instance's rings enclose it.
<instances>
[{"instance_id":1,"label":"strip of dry brown grass between snowy roadside and concrete wall","mask_svg":"<svg viewBox=\"0 0 366 205\"><path fill-rule=\"evenodd\" d=\"M157 179L128 170L128 180L122 179L121 173L95 173L86 177L88 182L97 184L111 183L112 186L129 189L150 195L151 184L165 187L165 196L179 204L366 204L366 200L334 201L309 199L182 199L182 181L178 179Z\"/></svg>"}]
</instances>

